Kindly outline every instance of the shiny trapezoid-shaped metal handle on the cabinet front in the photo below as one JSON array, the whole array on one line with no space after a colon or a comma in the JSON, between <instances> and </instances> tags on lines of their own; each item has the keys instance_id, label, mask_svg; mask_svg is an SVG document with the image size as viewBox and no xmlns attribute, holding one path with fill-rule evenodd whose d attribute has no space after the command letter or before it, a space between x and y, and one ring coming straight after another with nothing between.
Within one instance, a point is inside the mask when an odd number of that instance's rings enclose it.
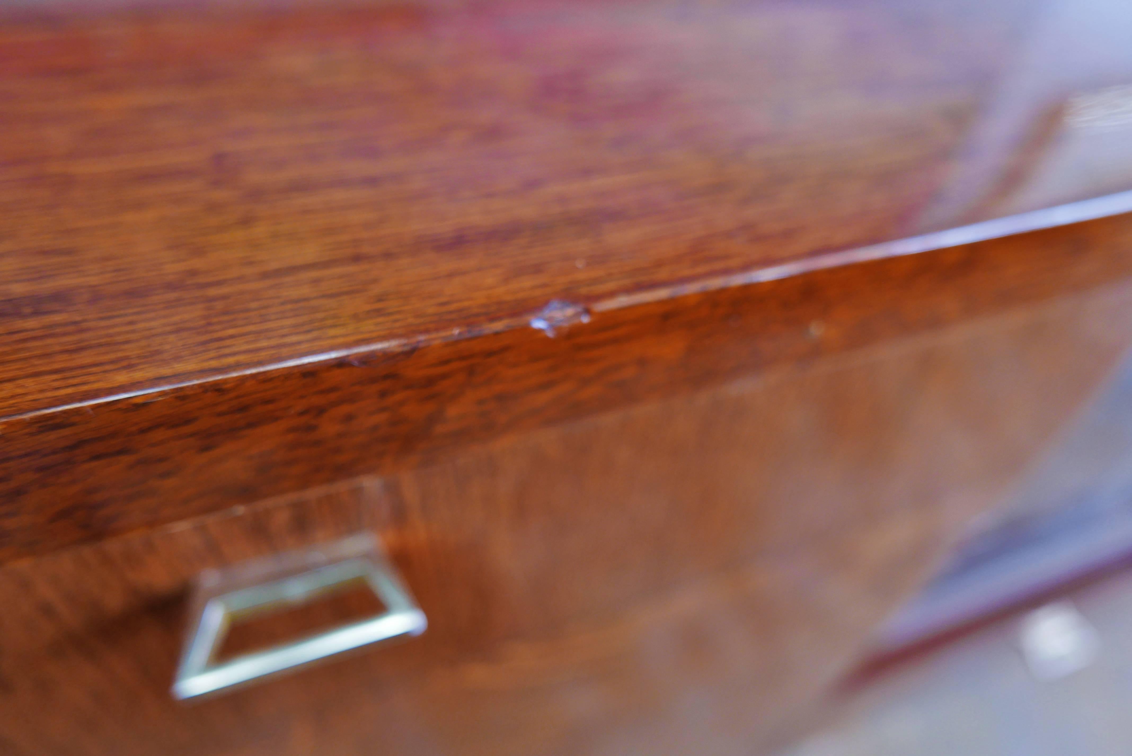
<instances>
[{"instance_id":1,"label":"shiny trapezoid-shaped metal handle on the cabinet front","mask_svg":"<svg viewBox=\"0 0 1132 756\"><path fill-rule=\"evenodd\" d=\"M365 580L386 611L224 662L216 653L234 614L302 605L335 586ZM289 551L200 575L197 619L173 681L174 698L215 693L351 649L420 635L428 622L369 533Z\"/></svg>"}]
</instances>

